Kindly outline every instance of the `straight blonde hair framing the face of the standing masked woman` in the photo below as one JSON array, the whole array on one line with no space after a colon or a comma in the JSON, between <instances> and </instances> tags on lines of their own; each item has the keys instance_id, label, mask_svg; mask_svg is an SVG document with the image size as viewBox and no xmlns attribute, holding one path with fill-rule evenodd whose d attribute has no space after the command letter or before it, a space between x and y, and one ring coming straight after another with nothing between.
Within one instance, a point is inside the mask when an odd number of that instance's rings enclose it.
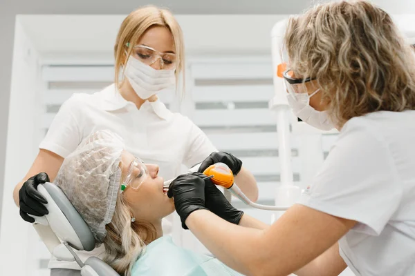
<instances>
[{"instance_id":1,"label":"straight blonde hair framing the face of the standing masked woman","mask_svg":"<svg viewBox=\"0 0 415 276\"><path fill-rule=\"evenodd\" d=\"M115 83L120 87L120 72L127 61L133 46L140 40L142 34L153 26L162 26L171 33L176 48L176 82L182 75L183 86L185 83L185 49L183 43L183 32L173 14L169 10L160 9L156 6L145 6L134 10L122 21L120 30L117 34L116 45L114 46L115 63ZM129 43L129 47L127 47ZM127 53L126 53L127 52ZM121 83L122 84L122 83Z\"/></svg>"}]
</instances>

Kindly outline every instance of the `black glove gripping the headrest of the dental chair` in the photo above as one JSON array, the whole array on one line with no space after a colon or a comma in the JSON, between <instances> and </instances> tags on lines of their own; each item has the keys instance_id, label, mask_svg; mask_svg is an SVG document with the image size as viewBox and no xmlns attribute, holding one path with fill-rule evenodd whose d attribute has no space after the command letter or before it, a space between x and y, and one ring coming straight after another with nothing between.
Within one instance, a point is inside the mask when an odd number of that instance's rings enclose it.
<instances>
[{"instance_id":1,"label":"black glove gripping the headrest of the dental chair","mask_svg":"<svg viewBox=\"0 0 415 276\"><path fill-rule=\"evenodd\" d=\"M20 216L30 223L35 222L35 219L28 214L42 217L49 213L44 206L48 201L37 191L37 186L45 182L49 182L49 177L46 172L40 172L26 180L19 190Z\"/></svg>"}]
</instances>

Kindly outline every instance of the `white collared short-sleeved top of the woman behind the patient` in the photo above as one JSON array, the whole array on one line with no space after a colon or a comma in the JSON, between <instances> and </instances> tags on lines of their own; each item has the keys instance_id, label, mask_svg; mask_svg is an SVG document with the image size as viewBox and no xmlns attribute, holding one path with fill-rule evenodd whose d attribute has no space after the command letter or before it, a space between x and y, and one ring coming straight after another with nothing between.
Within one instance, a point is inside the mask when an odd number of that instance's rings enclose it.
<instances>
[{"instance_id":1,"label":"white collared short-sleeved top of the woman behind the patient","mask_svg":"<svg viewBox=\"0 0 415 276\"><path fill-rule=\"evenodd\" d=\"M120 135L125 149L145 163L158 164L159 175L166 180L182 173L182 164L191 167L216 150L205 133L187 117L170 112L160 101L145 101L138 110L121 97L114 84L93 95L74 94L68 99L39 148L65 158L82 139L100 129ZM103 246L100 248L95 248L91 254L82 252L79 255L85 260L102 253ZM52 259L48 267L79 269L75 262L56 259Z\"/></svg>"}]
</instances>

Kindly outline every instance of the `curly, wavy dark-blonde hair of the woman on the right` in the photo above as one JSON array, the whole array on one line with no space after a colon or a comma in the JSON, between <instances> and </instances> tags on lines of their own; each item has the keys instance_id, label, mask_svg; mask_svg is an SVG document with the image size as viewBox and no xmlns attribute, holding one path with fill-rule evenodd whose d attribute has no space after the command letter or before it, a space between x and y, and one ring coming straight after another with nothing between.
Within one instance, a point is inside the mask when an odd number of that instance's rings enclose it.
<instances>
[{"instance_id":1,"label":"curly, wavy dark-blonde hair of the woman on the right","mask_svg":"<svg viewBox=\"0 0 415 276\"><path fill-rule=\"evenodd\" d=\"M291 17L284 45L289 67L317 80L340 127L369 112L415 109L414 50L367 1L325 3Z\"/></svg>"}]
</instances>

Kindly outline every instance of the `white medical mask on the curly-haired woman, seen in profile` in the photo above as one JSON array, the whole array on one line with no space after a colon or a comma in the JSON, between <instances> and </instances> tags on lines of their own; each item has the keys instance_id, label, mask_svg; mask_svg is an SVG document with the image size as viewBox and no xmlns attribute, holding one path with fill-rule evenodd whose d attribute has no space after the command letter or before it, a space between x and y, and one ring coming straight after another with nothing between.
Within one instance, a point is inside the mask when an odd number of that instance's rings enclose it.
<instances>
[{"instance_id":1,"label":"white medical mask on the curly-haired woman, seen in profile","mask_svg":"<svg viewBox=\"0 0 415 276\"><path fill-rule=\"evenodd\" d=\"M315 90L311 95L307 93L298 93L295 96L288 93L288 104L293 108L295 116L302 119L306 124L320 130L331 130L335 128L326 111L317 111L310 106L310 98L313 97L320 89Z\"/></svg>"}]
</instances>

